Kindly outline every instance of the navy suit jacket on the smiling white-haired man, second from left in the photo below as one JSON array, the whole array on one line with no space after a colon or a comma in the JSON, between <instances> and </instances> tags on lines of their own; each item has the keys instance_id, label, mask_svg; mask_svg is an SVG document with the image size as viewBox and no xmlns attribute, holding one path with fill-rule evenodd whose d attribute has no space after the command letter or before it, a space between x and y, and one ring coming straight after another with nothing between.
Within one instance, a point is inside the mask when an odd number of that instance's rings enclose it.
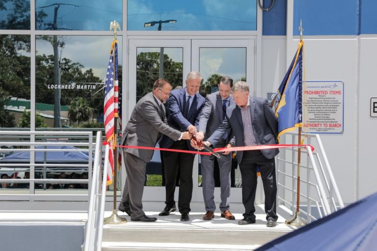
<instances>
[{"instance_id":1,"label":"navy suit jacket on the smiling white-haired man, second from left","mask_svg":"<svg viewBox=\"0 0 377 251\"><path fill-rule=\"evenodd\" d=\"M199 93L196 93L193 97L190 109L188 110L188 118L186 119L183 116L183 109L185 105L185 93L186 88L172 90L171 95L169 97L169 117L167 122L169 126L183 132L187 131L188 126L194 125L196 128L199 124L199 113L201 108L205 102L203 96ZM166 135L162 136L162 140L160 142L160 146L162 148L169 148L173 144L173 140ZM188 148L192 151L195 151L190 146L190 141L187 140Z\"/></svg>"}]
</instances>

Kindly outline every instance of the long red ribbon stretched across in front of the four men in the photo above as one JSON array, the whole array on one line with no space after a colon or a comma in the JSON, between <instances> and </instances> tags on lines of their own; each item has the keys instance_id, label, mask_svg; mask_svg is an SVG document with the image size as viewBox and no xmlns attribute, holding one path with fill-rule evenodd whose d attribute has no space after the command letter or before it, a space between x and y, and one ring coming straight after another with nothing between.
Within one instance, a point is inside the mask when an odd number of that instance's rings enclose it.
<instances>
[{"instance_id":1,"label":"long red ribbon stretched across in front of the four men","mask_svg":"<svg viewBox=\"0 0 377 251\"><path fill-rule=\"evenodd\" d=\"M103 141L102 144L109 145L108 142ZM156 147L137 147L137 146L114 146L119 148L134 148L134 149L143 149L143 150L160 150L160 151L175 151L175 152L184 152L184 153L193 153L193 154L202 154L202 155L211 155L211 152L207 151L187 151L187 150L178 150L178 149L168 149L168 148L156 148ZM314 147L311 145L258 145L258 146L246 146L246 147L231 147L231 148L215 148L215 152L224 152L224 151L250 151L250 150L266 150L266 149L276 149L276 148L291 148L291 147L301 147L306 148L310 147L314 151Z\"/></svg>"}]
</instances>

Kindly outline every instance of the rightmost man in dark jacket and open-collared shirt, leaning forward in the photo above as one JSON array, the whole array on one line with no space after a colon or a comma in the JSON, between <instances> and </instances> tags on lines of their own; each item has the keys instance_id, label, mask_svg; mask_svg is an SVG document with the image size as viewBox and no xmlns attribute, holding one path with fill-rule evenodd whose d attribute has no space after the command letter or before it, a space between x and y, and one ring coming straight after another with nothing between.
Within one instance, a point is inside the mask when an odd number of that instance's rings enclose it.
<instances>
[{"instance_id":1,"label":"rightmost man in dark jacket and open-collared shirt, leaning forward","mask_svg":"<svg viewBox=\"0 0 377 251\"><path fill-rule=\"evenodd\" d=\"M236 146L276 144L277 120L267 100L249 96L246 82L238 81L232 88L235 104L228 107L226 116L218 129L208 138L206 145L216 145L231 128ZM200 148L199 148L200 149ZM257 188L257 166L260 167L265 191L265 212L267 226L276 226L276 175L275 159L277 149L238 151L242 176L242 203L245 207L240 225L255 223L255 192Z\"/></svg>"}]
</instances>

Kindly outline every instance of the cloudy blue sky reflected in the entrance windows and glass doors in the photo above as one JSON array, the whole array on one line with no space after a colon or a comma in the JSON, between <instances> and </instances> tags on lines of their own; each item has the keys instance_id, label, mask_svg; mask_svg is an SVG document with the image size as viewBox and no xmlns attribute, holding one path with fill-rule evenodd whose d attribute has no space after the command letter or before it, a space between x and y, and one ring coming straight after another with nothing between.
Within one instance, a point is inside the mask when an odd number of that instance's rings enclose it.
<instances>
[{"instance_id":1,"label":"cloudy blue sky reflected in the entrance windows and glass doors","mask_svg":"<svg viewBox=\"0 0 377 251\"><path fill-rule=\"evenodd\" d=\"M48 16L40 29L50 29L56 0L36 0L36 11ZM116 20L122 24L122 0L64 0L58 6L57 26L69 30L108 30ZM157 30L158 25L143 27L145 22L175 19L176 23L163 24L162 30L244 30L256 27L256 0L128 0L130 30ZM46 7L44 7L46 6ZM41 8L43 7L43 8ZM112 34L109 31L109 34ZM65 46L59 49L62 57L93 69L94 75L104 78L113 36L61 36ZM122 62L122 37L118 36L119 63ZM53 54L52 45L38 39L37 54ZM138 49L142 51L144 49ZM159 51L159 48L145 50ZM182 49L165 50L175 61L182 62ZM194 53L194 52L192 52ZM205 48L200 50L200 72L204 79L211 74L245 76L246 50L243 48Z\"/></svg>"}]
</instances>

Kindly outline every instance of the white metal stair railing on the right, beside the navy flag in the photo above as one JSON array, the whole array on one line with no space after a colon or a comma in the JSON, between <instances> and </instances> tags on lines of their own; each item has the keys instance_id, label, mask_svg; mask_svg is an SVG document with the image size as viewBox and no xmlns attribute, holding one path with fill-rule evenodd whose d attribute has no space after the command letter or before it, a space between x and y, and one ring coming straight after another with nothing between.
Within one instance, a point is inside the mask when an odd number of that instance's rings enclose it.
<instances>
[{"instance_id":1,"label":"white metal stair railing on the right, beside the navy flag","mask_svg":"<svg viewBox=\"0 0 377 251\"><path fill-rule=\"evenodd\" d=\"M297 132L288 132L285 134L285 140L286 143L288 142L288 137L292 137L292 143L296 144L296 136L298 135ZM330 214L333 211L337 211L338 208L343 208L344 203L340 196L338 186L336 184L335 178L332 174L330 164L328 162L326 153L323 149L323 144L320 138L319 134L306 134L306 137L308 138L307 144L311 144L311 139L314 139L317 143L315 146L316 152L313 153L311 151L310 147L306 147L305 149L302 149L302 153L307 153L306 158L306 165L305 163L301 164L300 167L307 170L306 174L306 180L303 177L300 177L300 180L303 184L306 184L306 194L304 189L300 190L300 197L306 200L306 211L302 210L300 208L300 211L303 212L304 215L307 216L308 221L310 222L311 219L315 219L311 213L311 206L312 203L316 205L319 217L322 218L325 215ZM292 151L291 154L287 155L286 151ZM297 177L295 176L295 171L297 167L297 163L295 162L295 156L296 156L297 149L285 149L280 153L277 157L277 184L279 189L279 196L278 200L282 203L287 203L292 207L292 211L294 211L296 205L295 205L295 199L297 196L297 191L294 189L296 185ZM291 157L290 157L291 156ZM323 159L323 162L321 161L321 157ZM291 158L291 159L290 159ZM302 158L301 158L302 162ZM282 163L280 165L280 163ZM318 165L317 165L318 163ZM286 167L286 164L292 165L292 173L285 172L284 170L281 170L281 166ZM289 167L288 167L289 168ZM286 167L286 171L288 171ZM314 174L314 177L311 178L311 175ZM302 176L302 171L301 171ZM282 181L281 181L282 179ZM292 182L287 182L289 179L292 180ZM314 182L313 179L315 180ZM291 187L288 185L291 183ZM313 196L311 196L311 189L310 187L314 186L314 193L317 195L317 198L315 199ZM288 202L287 194L285 193L285 190L289 191L288 193L292 193L292 202ZM283 194L282 194L283 193ZM302 202L304 202L303 200ZM336 205L336 201L338 202L338 206ZM302 204L301 202L301 204ZM330 207L330 204L332 207ZM293 214L293 212L292 212Z\"/></svg>"}]
</instances>

